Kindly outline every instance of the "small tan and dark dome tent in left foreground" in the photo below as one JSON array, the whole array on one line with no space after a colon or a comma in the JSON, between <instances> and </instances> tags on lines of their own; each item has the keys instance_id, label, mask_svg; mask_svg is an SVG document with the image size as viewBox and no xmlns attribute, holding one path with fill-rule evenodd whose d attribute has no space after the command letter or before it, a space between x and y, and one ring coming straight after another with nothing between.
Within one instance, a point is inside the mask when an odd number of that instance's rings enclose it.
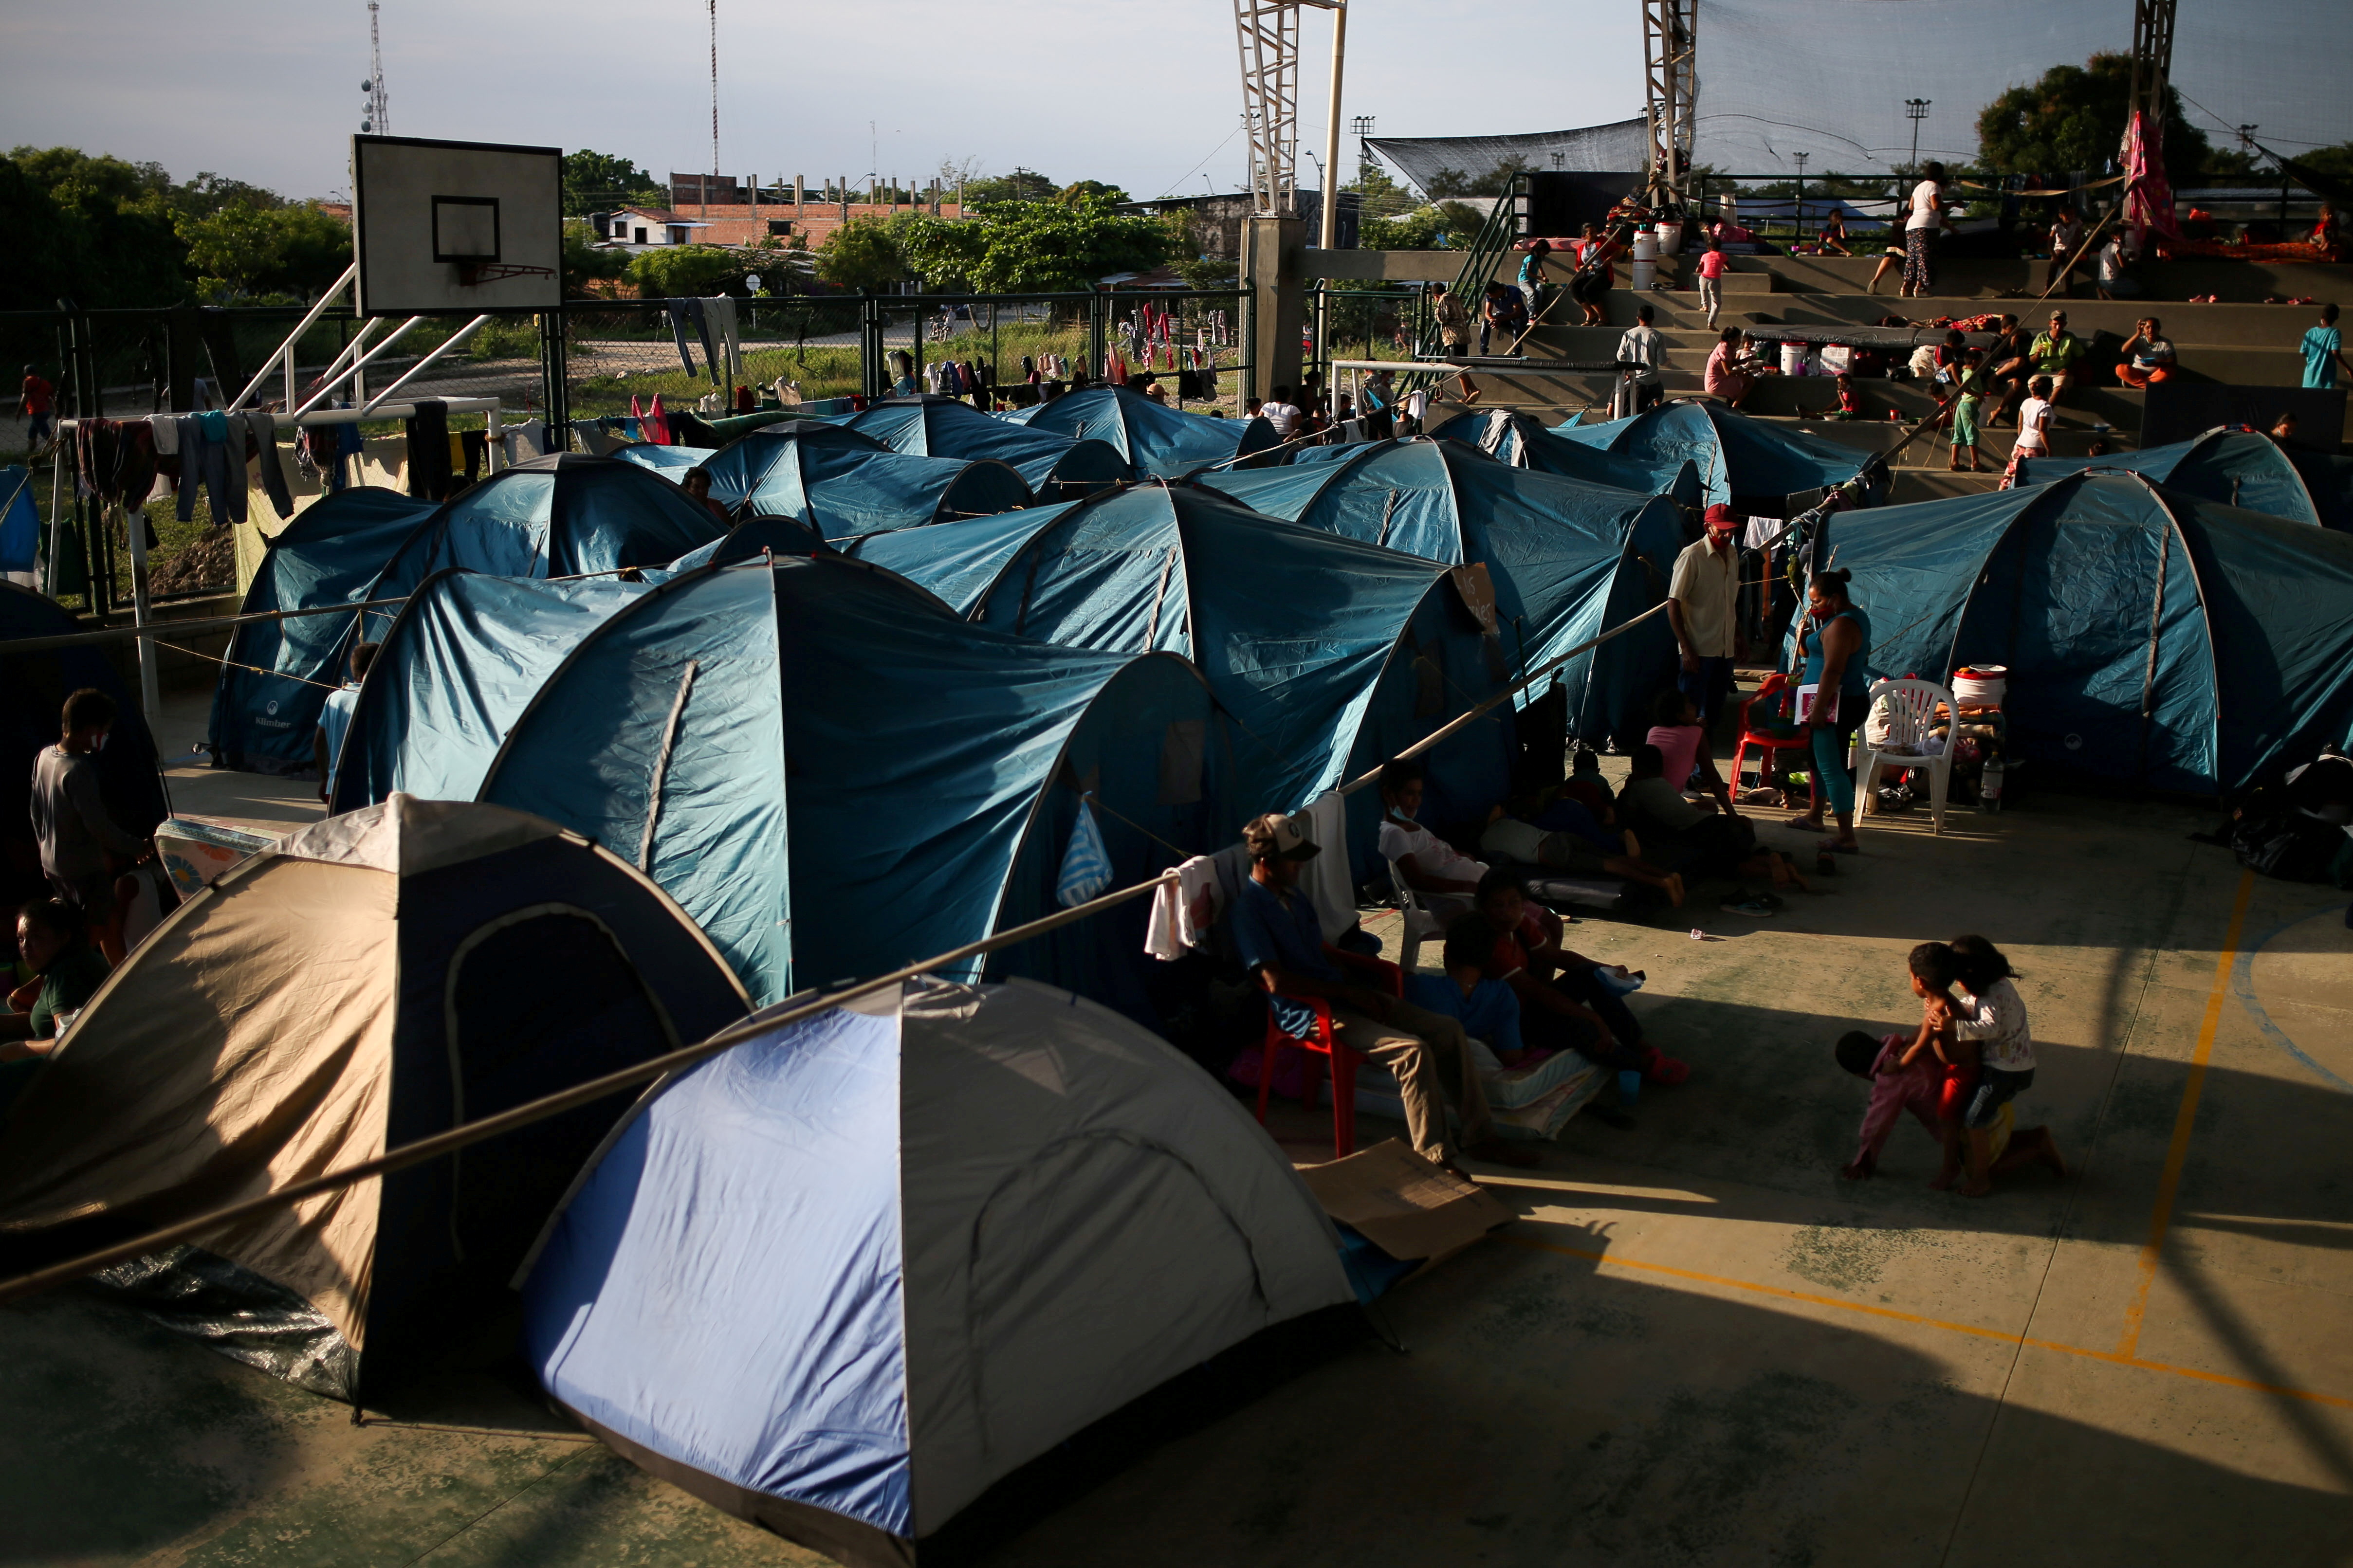
<instances>
[{"instance_id":1,"label":"small tan and dark dome tent in left foreground","mask_svg":"<svg viewBox=\"0 0 2353 1568\"><path fill-rule=\"evenodd\" d=\"M0 1126L0 1265L71 1258L696 1041L748 1011L638 870L393 795L245 860L118 969ZM631 1095L104 1279L339 1399L511 1345L508 1279ZM14 1272L9 1267L7 1272Z\"/></svg>"}]
</instances>

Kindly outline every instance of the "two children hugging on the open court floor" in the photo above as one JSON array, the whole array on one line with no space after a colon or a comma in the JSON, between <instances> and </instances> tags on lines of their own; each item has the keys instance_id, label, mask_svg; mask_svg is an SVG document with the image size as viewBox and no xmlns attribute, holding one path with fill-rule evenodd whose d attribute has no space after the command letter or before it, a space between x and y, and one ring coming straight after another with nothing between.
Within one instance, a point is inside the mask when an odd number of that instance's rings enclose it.
<instances>
[{"instance_id":1,"label":"two children hugging on the open court floor","mask_svg":"<svg viewBox=\"0 0 2353 1568\"><path fill-rule=\"evenodd\" d=\"M1944 1145L1929 1187L1960 1180L1965 1197L1986 1197L1993 1175L2026 1164L2066 1175L2049 1128L2017 1126L2012 1100L2035 1081L2035 1041L2014 973L1981 936L1911 950L1920 1030L1908 1039L1857 1030L1838 1041L1838 1065L1871 1081L1864 1140L1847 1178L1878 1171L1880 1147L1906 1110Z\"/></svg>"}]
</instances>

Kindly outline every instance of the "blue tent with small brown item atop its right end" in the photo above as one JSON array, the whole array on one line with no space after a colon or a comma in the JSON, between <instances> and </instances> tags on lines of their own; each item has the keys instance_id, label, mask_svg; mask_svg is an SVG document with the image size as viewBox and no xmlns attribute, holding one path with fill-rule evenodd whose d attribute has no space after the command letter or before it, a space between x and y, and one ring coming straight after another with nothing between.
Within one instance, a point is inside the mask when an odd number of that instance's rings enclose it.
<instances>
[{"instance_id":1,"label":"blue tent with small brown item atop its right end","mask_svg":"<svg viewBox=\"0 0 2353 1568\"><path fill-rule=\"evenodd\" d=\"M1440 562L1261 517L1202 487L1146 484L880 534L856 552L984 625L1193 658L1235 722L1221 844L1261 811L1297 811L1379 766L1497 696L1513 672ZM1449 825L1499 802L1511 748L1504 708L1431 752L1428 820ZM1358 806L1379 811L1369 790L1351 799ZM1358 865L1369 835L1372 816L1353 823Z\"/></svg>"}]
</instances>

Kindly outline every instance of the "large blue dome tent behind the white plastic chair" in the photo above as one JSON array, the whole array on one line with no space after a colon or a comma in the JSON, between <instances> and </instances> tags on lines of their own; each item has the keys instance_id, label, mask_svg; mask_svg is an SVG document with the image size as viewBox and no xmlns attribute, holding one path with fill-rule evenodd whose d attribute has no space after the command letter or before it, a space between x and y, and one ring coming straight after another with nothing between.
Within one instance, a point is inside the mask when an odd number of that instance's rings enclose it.
<instances>
[{"instance_id":1,"label":"large blue dome tent behind the white plastic chair","mask_svg":"<svg viewBox=\"0 0 2353 1568\"><path fill-rule=\"evenodd\" d=\"M2353 536L2141 477L1838 512L1873 675L2007 665L2014 752L2198 795L2353 724Z\"/></svg>"}]
</instances>

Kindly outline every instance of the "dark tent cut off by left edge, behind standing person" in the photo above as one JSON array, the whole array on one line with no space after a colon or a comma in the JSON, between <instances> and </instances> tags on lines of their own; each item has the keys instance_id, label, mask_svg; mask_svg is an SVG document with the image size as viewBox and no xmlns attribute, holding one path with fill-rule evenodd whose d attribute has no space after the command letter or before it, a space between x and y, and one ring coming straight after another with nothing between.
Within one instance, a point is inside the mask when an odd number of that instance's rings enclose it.
<instances>
[{"instance_id":1,"label":"dark tent cut off by left edge, behind standing person","mask_svg":"<svg viewBox=\"0 0 2353 1568\"><path fill-rule=\"evenodd\" d=\"M332 616L322 616L332 618ZM0 583L0 896L21 903L35 891L47 896L40 877L40 849L33 842L33 757L40 748L56 745L59 719L66 698L82 686L96 686L115 698L115 731L99 752L99 795L106 813L125 832L146 835L169 811L162 773L155 759L155 736L139 712L139 698L115 675L113 661L99 646L49 649L47 654L9 654L7 644L19 637L71 637L82 625L31 588ZM24 867L24 886L14 886L14 872ZM16 940L14 914L9 917L9 940Z\"/></svg>"}]
</instances>

